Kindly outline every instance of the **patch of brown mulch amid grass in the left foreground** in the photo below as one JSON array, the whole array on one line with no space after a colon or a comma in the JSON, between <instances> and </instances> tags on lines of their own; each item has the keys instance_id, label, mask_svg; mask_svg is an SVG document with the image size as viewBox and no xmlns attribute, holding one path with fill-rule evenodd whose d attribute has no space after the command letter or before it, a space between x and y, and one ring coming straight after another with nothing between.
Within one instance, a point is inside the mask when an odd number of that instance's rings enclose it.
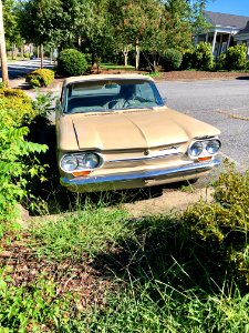
<instances>
[{"instance_id":1,"label":"patch of brown mulch amid grass in the left foreground","mask_svg":"<svg viewBox=\"0 0 249 333\"><path fill-rule=\"evenodd\" d=\"M66 292L72 292L79 297L77 306L104 306L104 295L107 290L113 290L114 284L108 279L103 279L102 273L92 266L92 261L84 253L82 260L64 260L54 262L38 258L29 246L29 235L23 235L21 241L11 244L1 242L0 268L3 274L11 278L11 285L25 286L35 284L40 278L53 281L56 285L55 297Z\"/></svg>"}]
</instances>

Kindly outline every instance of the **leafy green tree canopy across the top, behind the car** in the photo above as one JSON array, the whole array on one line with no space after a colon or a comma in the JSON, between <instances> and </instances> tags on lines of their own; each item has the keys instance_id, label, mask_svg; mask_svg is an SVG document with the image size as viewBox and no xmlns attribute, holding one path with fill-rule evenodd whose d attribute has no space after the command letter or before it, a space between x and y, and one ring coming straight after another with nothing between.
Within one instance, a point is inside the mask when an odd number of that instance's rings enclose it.
<instances>
[{"instance_id":1,"label":"leafy green tree canopy across the top, behind the car","mask_svg":"<svg viewBox=\"0 0 249 333\"><path fill-rule=\"evenodd\" d=\"M155 70L163 50L189 48L193 34L206 29L205 2L28 0L19 4L19 29L37 44L91 53L92 64L98 57L113 61L122 53L127 60L136 47Z\"/></svg>"}]
</instances>

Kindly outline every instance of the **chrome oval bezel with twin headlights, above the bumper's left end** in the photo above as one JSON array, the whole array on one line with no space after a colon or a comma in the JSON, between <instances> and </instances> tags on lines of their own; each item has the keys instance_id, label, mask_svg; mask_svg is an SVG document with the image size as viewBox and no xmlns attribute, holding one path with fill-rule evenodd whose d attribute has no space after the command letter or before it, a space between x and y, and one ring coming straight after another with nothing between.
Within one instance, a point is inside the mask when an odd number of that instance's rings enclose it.
<instances>
[{"instance_id":1,"label":"chrome oval bezel with twin headlights, above the bumper's left end","mask_svg":"<svg viewBox=\"0 0 249 333\"><path fill-rule=\"evenodd\" d=\"M74 168L66 168L66 161L73 161ZM93 171L101 168L103 158L96 152L82 152L82 153L65 153L61 157L60 168L63 172L73 173L75 171Z\"/></svg>"}]
</instances>

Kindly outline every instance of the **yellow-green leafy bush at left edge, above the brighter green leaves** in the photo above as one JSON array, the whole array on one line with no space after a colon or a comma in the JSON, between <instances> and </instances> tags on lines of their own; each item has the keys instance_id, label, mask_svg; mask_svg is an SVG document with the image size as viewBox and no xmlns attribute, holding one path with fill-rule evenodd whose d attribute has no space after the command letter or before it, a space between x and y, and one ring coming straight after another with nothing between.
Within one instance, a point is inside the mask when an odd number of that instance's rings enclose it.
<instances>
[{"instance_id":1,"label":"yellow-green leafy bush at left edge, above the brighter green leaves","mask_svg":"<svg viewBox=\"0 0 249 333\"><path fill-rule=\"evenodd\" d=\"M4 112L6 124L10 127L29 124L37 115L32 99L20 89L0 89L0 114L1 110Z\"/></svg>"}]
</instances>

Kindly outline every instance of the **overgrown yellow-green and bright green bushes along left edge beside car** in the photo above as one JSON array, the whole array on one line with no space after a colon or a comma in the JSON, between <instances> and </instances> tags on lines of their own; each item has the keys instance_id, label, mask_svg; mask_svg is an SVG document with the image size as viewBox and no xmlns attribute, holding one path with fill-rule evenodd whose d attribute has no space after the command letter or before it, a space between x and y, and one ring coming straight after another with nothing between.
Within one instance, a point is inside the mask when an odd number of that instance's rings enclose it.
<instances>
[{"instance_id":1,"label":"overgrown yellow-green and bright green bushes along left edge beside car","mask_svg":"<svg viewBox=\"0 0 249 333\"><path fill-rule=\"evenodd\" d=\"M27 140L37 112L20 90L1 89L0 102L0 222L17 218L17 204L28 195L28 182L43 171L35 154L46 147Z\"/></svg>"}]
</instances>

